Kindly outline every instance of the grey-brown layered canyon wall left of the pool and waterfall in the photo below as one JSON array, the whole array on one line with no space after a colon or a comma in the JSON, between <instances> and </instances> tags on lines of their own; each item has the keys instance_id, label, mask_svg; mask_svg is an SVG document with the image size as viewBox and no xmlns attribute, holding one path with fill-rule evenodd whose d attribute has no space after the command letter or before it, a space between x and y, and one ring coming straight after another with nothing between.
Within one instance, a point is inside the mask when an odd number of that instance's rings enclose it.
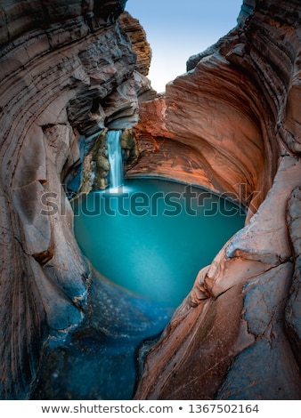
<instances>
[{"instance_id":1,"label":"grey-brown layered canyon wall left of the pool and waterfall","mask_svg":"<svg viewBox=\"0 0 301 418\"><path fill-rule=\"evenodd\" d=\"M85 316L90 271L62 185L76 179L93 147L87 137L116 119L122 127L136 122L138 98L150 90L118 22L125 4L2 2L2 399L28 396L42 344Z\"/></svg>"}]
</instances>

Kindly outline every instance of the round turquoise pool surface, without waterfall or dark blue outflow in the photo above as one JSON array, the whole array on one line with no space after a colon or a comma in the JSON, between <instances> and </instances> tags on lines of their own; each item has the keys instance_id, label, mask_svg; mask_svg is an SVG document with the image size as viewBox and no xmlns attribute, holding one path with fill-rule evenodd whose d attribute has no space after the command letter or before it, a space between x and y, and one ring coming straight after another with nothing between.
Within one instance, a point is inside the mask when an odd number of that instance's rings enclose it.
<instances>
[{"instance_id":1,"label":"round turquoise pool surface, without waterfall or dark blue outflow","mask_svg":"<svg viewBox=\"0 0 301 418\"><path fill-rule=\"evenodd\" d=\"M150 301L175 308L199 269L241 229L231 201L173 181L135 179L76 205L75 234L94 268Z\"/></svg>"}]
</instances>

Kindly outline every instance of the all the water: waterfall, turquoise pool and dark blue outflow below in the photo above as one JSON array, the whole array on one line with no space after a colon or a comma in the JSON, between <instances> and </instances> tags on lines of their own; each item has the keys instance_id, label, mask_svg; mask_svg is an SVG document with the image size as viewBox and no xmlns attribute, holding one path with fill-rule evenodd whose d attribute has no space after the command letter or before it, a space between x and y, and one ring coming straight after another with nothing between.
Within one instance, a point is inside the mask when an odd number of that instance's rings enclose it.
<instances>
[{"instance_id":1,"label":"all the water: waterfall, turquoise pool and dark blue outflow below","mask_svg":"<svg viewBox=\"0 0 301 418\"><path fill-rule=\"evenodd\" d=\"M190 185L127 179L126 188L118 187L122 183L119 135L110 131L107 138L109 192L93 190L73 201L78 244L94 269L117 286L95 273L94 298L99 292L99 301L91 305L91 321L96 318L95 324L103 328L93 326L78 334L78 342L72 341L65 357L71 352L75 358L66 371L72 376L68 393L77 394L78 379L73 377L80 370L92 382L89 396L108 400L132 397L137 377L134 359L142 361L157 338L153 336L167 326L190 292L199 270L212 262L245 221L240 206ZM111 301L117 299L115 309ZM102 309L108 315L103 316ZM142 350L137 350L141 342ZM83 350L84 344L89 350Z\"/></svg>"}]
</instances>

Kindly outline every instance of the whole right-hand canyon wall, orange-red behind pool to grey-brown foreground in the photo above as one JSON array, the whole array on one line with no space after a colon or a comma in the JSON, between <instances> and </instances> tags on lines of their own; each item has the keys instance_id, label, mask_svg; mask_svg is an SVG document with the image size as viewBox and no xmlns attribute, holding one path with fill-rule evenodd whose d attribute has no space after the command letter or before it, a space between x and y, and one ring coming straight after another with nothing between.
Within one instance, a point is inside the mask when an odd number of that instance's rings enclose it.
<instances>
[{"instance_id":1,"label":"whole right-hand canyon wall, orange-red behind pool to grey-brown foreground","mask_svg":"<svg viewBox=\"0 0 301 418\"><path fill-rule=\"evenodd\" d=\"M151 348L137 399L301 397L300 16L297 0L245 1L238 28L140 107L129 174L231 192L249 211Z\"/></svg>"}]
</instances>

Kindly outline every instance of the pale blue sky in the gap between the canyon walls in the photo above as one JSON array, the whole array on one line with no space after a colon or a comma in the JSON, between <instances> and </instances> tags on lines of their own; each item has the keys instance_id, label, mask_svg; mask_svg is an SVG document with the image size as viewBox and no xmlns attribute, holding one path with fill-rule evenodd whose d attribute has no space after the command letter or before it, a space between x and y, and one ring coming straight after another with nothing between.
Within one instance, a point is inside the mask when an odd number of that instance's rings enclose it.
<instances>
[{"instance_id":1,"label":"pale blue sky in the gap between the canyon walls","mask_svg":"<svg viewBox=\"0 0 301 418\"><path fill-rule=\"evenodd\" d=\"M142 24L152 50L149 78L157 92L186 71L191 55L234 28L242 0L127 0L126 11Z\"/></svg>"}]
</instances>

